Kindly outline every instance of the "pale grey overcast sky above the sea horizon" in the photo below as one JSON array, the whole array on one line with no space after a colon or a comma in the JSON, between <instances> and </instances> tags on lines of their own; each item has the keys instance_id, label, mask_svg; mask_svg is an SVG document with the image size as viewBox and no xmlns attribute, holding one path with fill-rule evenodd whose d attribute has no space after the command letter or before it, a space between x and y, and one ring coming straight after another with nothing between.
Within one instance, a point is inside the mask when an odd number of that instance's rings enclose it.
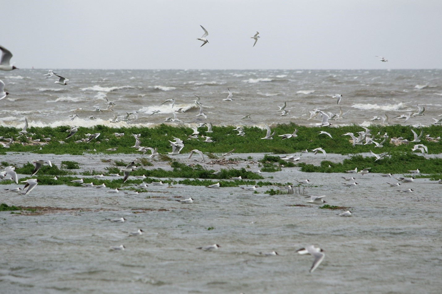
<instances>
[{"instance_id":1,"label":"pale grey overcast sky above the sea horizon","mask_svg":"<svg viewBox=\"0 0 442 294\"><path fill-rule=\"evenodd\" d=\"M441 0L0 0L0 7L0 44L19 68L442 68ZM200 24L209 31L201 48Z\"/></svg>"}]
</instances>

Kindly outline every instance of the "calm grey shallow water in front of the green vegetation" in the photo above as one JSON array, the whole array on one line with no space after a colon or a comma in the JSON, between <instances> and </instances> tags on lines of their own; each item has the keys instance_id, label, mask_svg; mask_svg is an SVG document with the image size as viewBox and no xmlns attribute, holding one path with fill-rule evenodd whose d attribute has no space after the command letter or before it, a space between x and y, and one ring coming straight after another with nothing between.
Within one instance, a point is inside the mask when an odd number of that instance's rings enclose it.
<instances>
[{"instance_id":1,"label":"calm grey shallow water in front of the green vegetation","mask_svg":"<svg viewBox=\"0 0 442 294\"><path fill-rule=\"evenodd\" d=\"M249 155L263 156L240 156ZM109 164L100 160L108 155L46 156L57 166L73 160L87 170L104 170ZM2 160L21 166L34 157L8 153ZM118 158L130 161L133 155ZM192 162L187 155L175 158ZM312 154L301 158L313 164L323 160ZM331 161L343 158L328 155ZM161 162L152 168L158 167L170 168ZM327 195L328 204L351 207L353 216L339 217L340 211L316 205L287 206L308 199L262 193L271 187L258 188L259 194L183 185L150 186L150 192L129 196L67 186L37 186L28 196L0 192L2 203L80 208L29 216L0 212L0 292L440 292L442 185L416 179L402 186L415 190L409 194L396 192L386 184L393 180L378 174L355 176L359 185L350 188L341 184L341 176L348 174L285 168L263 176L274 182L308 178L317 186L308 188L309 195ZM1 191L7 187L2 185ZM180 204L173 201L175 196L195 201ZM105 220L122 216L127 222ZM138 228L145 234L124 233ZM216 252L196 249L214 243L221 245ZM109 246L120 244L125 251L109 251ZM305 245L320 246L326 254L312 274L312 257L296 253ZM258 255L273 250L279 256Z\"/></svg>"}]
</instances>

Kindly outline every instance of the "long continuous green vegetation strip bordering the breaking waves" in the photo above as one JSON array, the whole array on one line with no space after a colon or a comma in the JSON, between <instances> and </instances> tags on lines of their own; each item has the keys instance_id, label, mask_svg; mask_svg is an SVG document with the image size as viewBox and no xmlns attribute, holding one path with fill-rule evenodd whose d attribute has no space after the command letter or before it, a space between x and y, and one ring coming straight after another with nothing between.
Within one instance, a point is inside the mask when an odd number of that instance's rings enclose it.
<instances>
[{"instance_id":1,"label":"long continuous green vegetation strip bordering the breaking waves","mask_svg":"<svg viewBox=\"0 0 442 294\"><path fill-rule=\"evenodd\" d=\"M236 132L232 131L232 126L213 126L213 133L211 134L215 143L204 143L202 139L190 139L187 140L188 135L190 135L193 130L184 125L181 126L171 126L167 124L161 124L154 128L139 128L139 127L127 127L127 128L111 128L105 125L96 125L92 128L79 128L79 131L73 137L65 139L67 136L66 130L68 127L43 127L36 128L30 126L28 128L29 132L33 132L36 135L33 139L42 139L42 134L45 136L50 136L51 141L46 145L42 146L42 150L39 150L40 145L27 145L23 146L20 143L20 139L17 139L15 143L12 143L8 151L13 152L34 152L38 154L72 154L81 155L83 153L97 152L103 153L135 153L140 154L136 148L131 148L135 143L135 139L130 136L131 133L141 133L141 144L142 146L148 147L158 147L158 152L162 153L164 156L171 151L169 139L172 137L178 137L184 140L184 148L182 153L188 153L193 149L198 149L204 153L212 153L215 156L217 154L225 153L232 148L236 148L235 153L264 153L269 150L275 154L290 154L293 152L299 152L305 149L314 149L316 147L324 147L328 153L337 154L351 154L351 153L361 153L369 152L373 149L373 145L357 145L352 147L349 142L348 136L342 136L346 132L353 132L356 134L364 129L358 125L351 126L341 126L337 128L320 128L320 127L306 127L297 124L278 124L272 127L272 130L276 132L276 135L292 133L293 130L297 128L296 138L290 138L282 140L275 136L274 140L262 140L261 138L265 134L263 129L258 127L248 127L244 126L245 136L236 136ZM404 137L405 139L412 140L414 138L413 133L410 130L410 126L403 126L399 124L395 125L380 125L375 124L369 127L372 130L372 134L377 134L381 132L384 134L388 133L389 137ZM424 135L429 134L431 137L440 136L442 133L442 126L431 125L428 127L423 127ZM329 132L333 139L328 136L319 135L321 130L326 130ZM20 130L17 128L0 126L0 136L8 137L18 136ZM86 133L96 133L99 132L101 135L97 140L93 140L90 143L75 143L76 140L84 138ZM114 136L114 132L124 132L126 135L117 138ZM167 134L167 135L166 135ZM105 139L108 139L106 141ZM65 141L65 144L61 144L58 141ZM423 144L427 145L428 151L431 154L442 153L442 143L441 142L427 142L422 140ZM118 151L106 151L106 149L118 146ZM401 144L395 146L392 143L384 144L382 152L387 151L410 151L412 144ZM3 150L2 150L3 151ZM163 159L167 160L167 159Z\"/></svg>"}]
</instances>

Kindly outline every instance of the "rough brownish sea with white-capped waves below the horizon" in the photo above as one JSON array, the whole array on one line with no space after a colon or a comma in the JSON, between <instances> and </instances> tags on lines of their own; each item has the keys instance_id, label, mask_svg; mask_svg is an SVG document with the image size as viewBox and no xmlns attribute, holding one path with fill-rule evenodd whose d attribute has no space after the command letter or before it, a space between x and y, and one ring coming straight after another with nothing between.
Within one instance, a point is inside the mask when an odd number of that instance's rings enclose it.
<instances>
[{"instance_id":1,"label":"rough brownish sea with white-capped waves below the horizon","mask_svg":"<svg viewBox=\"0 0 442 294\"><path fill-rule=\"evenodd\" d=\"M42 70L20 69L0 73L5 89L11 94L0 102L0 124L23 126L25 117L33 126L76 124L90 126L109 124L113 114L138 111L137 121L119 125L152 125L170 117L170 103L183 123L211 121L213 124L286 123L311 125L309 110L322 109L345 113L341 124L370 124L373 116L386 113L392 119L398 114L417 112L416 104L424 106L426 116L413 117L407 124L428 125L431 117L442 114L441 70L57 70L69 79L61 86L54 78L44 79ZM222 101L233 92L235 101ZM343 94L339 106L334 94ZM194 95L201 97L208 118L196 117L199 108L192 105ZM95 107L106 108L106 98L117 104L114 112L97 113ZM280 117L276 110L287 102L290 114ZM69 121L72 109L79 119ZM149 116L152 111L160 113ZM241 117L251 114L251 120ZM95 115L97 120L88 120ZM114 125L114 124L112 124Z\"/></svg>"}]
</instances>

